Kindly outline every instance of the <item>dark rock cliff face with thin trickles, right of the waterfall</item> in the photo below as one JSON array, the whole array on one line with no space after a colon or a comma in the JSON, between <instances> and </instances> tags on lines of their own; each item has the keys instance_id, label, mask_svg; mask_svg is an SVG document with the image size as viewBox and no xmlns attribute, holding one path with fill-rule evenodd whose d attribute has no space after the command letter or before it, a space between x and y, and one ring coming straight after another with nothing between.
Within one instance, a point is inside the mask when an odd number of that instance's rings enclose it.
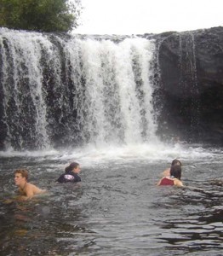
<instances>
[{"instance_id":1,"label":"dark rock cliff face with thin trickles, right of the waterfall","mask_svg":"<svg viewBox=\"0 0 223 256\"><path fill-rule=\"evenodd\" d=\"M158 35L159 133L223 144L223 27Z\"/></svg>"}]
</instances>

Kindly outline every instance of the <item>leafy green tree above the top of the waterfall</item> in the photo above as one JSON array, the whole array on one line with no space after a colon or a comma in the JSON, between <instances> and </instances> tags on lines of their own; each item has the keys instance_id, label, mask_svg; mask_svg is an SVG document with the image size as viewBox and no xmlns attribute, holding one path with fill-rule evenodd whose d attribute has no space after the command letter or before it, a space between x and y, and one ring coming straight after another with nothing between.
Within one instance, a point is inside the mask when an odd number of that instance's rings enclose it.
<instances>
[{"instance_id":1,"label":"leafy green tree above the top of the waterfall","mask_svg":"<svg viewBox=\"0 0 223 256\"><path fill-rule=\"evenodd\" d=\"M0 26L38 32L69 32L77 27L80 0L1 0Z\"/></svg>"}]
</instances>

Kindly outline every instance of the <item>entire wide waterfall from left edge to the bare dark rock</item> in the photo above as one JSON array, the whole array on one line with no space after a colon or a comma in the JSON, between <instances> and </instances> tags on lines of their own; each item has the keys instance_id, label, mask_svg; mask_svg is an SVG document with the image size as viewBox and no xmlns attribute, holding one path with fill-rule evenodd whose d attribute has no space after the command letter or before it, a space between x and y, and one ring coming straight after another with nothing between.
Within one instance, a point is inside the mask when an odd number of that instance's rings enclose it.
<instances>
[{"instance_id":1,"label":"entire wide waterfall from left edge to the bare dark rock","mask_svg":"<svg viewBox=\"0 0 223 256\"><path fill-rule=\"evenodd\" d=\"M0 143L40 149L157 141L155 42L0 29Z\"/></svg>"}]
</instances>

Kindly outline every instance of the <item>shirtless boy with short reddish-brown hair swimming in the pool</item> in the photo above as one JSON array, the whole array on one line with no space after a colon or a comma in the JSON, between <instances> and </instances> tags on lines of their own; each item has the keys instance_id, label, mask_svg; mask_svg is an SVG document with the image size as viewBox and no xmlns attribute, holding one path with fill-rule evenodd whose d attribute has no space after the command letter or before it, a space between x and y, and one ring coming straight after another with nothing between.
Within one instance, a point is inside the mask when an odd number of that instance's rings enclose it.
<instances>
[{"instance_id":1,"label":"shirtless boy with short reddish-brown hair swimming in the pool","mask_svg":"<svg viewBox=\"0 0 223 256\"><path fill-rule=\"evenodd\" d=\"M37 186L28 183L28 171L26 169L18 169L14 172L14 183L19 187L21 199L31 199L33 195L42 194L45 192L43 189L37 188Z\"/></svg>"}]
</instances>

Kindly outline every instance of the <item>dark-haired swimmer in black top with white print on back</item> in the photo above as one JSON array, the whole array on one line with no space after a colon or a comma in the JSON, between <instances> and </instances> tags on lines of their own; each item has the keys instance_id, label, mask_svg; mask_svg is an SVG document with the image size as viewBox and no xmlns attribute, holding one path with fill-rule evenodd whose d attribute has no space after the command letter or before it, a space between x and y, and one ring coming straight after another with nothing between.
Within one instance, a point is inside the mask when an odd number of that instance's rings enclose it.
<instances>
[{"instance_id":1,"label":"dark-haired swimmer in black top with white print on back","mask_svg":"<svg viewBox=\"0 0 223 256\"><path fill-rule=\"evenodd\" d=\"M59 183L77 183L81 181L81 178L78 176L78 173L81 172L80 165L78 163L71 163L70 166L65 168L65 173L60 175L57 179Z\"/></svg>"}]
</instances>

